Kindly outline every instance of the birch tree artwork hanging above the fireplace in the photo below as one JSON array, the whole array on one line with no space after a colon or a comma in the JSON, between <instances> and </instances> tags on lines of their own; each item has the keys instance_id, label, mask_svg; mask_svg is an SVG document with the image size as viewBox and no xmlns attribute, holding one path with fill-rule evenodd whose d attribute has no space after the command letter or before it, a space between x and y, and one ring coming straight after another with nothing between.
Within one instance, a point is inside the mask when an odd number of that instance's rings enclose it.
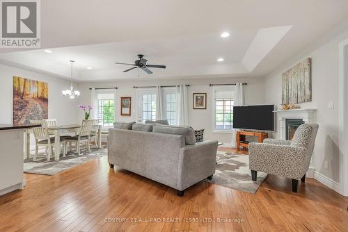
<instances>
[{"instance_id":1,"label":"birch tree artwork hanging above the fireplace","mask_svg":"<svg viewBox=\"0 0 348 232\"><path fill-rule=\"evenodd\" d=\"M294 104L312 101L311 59L301 61L282 74L282 102Z\"/></svg>"}]
</instances>

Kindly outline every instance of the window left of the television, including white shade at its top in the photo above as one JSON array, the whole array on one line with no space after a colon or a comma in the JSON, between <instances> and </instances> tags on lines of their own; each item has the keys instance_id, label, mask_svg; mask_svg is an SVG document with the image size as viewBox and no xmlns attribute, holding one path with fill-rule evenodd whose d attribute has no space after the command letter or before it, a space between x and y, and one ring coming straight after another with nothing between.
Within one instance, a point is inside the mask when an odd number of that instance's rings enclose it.
<instances>
[{"instance_id":1,"label":"window left of the television, including white shade at its top","mask_svg":"<svg viewBox=\"0 0 348 232\"><path fill-rule=\"evenodd\" d=\"M215 131L232 131L234 89L230 86L216 86L213 92L213 128Z\"/></svg>"}]
</instances>

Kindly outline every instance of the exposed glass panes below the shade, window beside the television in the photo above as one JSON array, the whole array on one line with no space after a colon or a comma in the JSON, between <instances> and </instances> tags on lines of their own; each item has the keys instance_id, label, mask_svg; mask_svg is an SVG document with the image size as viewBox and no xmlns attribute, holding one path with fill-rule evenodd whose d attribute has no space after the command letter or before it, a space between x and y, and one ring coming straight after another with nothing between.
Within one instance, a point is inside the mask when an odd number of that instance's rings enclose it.
<instances>
[{"instance_id":1,"label":"exposed glass panes below the shade, window beside the television","mask_svg":"<svg viewBox=\"0 0 348 232\"><path fill-rule=\"evenodd\" d=\"M215 100L215 129L233 129L233 99L217 98Z\"/></svg>"}]
</instances>

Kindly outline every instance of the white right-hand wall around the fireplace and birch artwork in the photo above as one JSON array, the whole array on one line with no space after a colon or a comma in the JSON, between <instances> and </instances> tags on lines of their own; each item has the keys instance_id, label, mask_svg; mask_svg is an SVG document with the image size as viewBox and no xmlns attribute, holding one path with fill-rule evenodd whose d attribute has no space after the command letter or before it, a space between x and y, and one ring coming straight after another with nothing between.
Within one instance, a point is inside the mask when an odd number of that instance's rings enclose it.
<instances>
[{"instance_id":1,"label":"white right-hand wall around the fireplace and birch artwork","mask_svg":"<svg viewBox=\"0 0 348 232\"><path fill-rule=\"evenodd\" d=\"M301 108L316 108L319 131L314 151L314 167L316 176L329 187L340 191L340 149L339 139L339 95L338 95L338 44L348 38L348 31L333 36L321 44L304 50L298 56L289 60L273 74L265 78L266 103L281 103L281 74L304 58L312 58L312 89L313 99L308 103L300 103ZM334 101L335 108L329 109L329 101ZM278 134L274 133L278 138ZM329 162L329 169L324 168L324 162Z\"/></svg>"}]
</instances>

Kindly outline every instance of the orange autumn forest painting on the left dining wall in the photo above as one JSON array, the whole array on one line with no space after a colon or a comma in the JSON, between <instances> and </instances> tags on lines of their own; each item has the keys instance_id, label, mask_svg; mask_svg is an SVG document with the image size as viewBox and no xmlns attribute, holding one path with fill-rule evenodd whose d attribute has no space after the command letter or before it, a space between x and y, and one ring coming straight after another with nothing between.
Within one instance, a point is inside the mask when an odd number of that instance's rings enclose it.
<instances>
[{"instance_id":1,"label":"orange autumn forest painting on the left dining wall","mask_svg":"<svg viewBox=\"0 0 348 232\"><path fill-rule=\"evenodd\" d=\"M48 117L48 84L13 76L13 124Z\"/></svg>"}]
</instances>

